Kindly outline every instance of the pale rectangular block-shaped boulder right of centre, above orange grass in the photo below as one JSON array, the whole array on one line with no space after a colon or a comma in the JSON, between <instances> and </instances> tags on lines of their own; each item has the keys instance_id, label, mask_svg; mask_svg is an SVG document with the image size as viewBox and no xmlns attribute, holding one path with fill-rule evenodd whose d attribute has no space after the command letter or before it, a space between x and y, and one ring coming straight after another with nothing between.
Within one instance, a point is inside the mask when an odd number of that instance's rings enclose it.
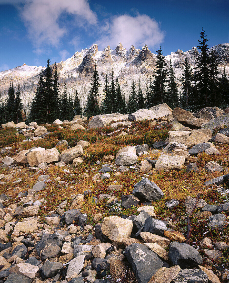
<instances>
[{"instance_id":1,"label":"pale rectangular block-shaped boulder right of centre, above orange grass","mask_svg":"<svg viewBox=\"0 0 229 283\"><path fill-rule=\"evenodd\" d=\"M182 167L184 165L185 158L184 156L171 156L171 155L160 155L156 164L155 169L160 171L170 171L172 169L175 170L182 170Z\"/></svg>"}]
</instances>

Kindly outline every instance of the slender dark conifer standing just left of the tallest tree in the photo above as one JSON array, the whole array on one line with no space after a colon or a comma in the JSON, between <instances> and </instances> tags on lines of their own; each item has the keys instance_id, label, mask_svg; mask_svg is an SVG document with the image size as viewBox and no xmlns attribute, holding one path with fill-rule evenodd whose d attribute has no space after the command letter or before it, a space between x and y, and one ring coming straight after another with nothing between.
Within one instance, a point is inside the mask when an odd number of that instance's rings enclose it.
<instances>
[{"instance_id":1,"label":"slender dark conifer standing just left of the tallest tree","mask_svg":"<svg viewBox=\"0 0 229 283\"><path fill-rule=\"evenodd\" d=\"M180 98L180 101L182 101L182 107L188 107L188 99L191 99L191 89L192 89L192 70L191 66L188 62L187 55L185 55L185 62L184 62L184 70L182 77L180 79L182 86L182 99Z\"/></svg>"}]
</instances>

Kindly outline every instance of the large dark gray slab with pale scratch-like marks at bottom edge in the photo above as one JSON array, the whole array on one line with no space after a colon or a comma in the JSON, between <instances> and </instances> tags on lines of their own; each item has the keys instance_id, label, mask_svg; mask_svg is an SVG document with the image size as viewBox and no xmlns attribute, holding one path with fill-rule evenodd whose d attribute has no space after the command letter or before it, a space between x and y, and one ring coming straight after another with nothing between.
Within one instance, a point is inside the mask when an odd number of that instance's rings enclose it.
<instances>
[{"instance_id":1,"label":"large dark gray slab with pale scratch-like marks at bottom edge","mask_svg":"<svg viewBox=\"0 0 229 283\"><path fill-rule=\"evenodd\" d=\"M139 283L148 283L163 266L163 261L157 254L141 244L127 246L125 255Z\"/></svg>"}]
</instances>

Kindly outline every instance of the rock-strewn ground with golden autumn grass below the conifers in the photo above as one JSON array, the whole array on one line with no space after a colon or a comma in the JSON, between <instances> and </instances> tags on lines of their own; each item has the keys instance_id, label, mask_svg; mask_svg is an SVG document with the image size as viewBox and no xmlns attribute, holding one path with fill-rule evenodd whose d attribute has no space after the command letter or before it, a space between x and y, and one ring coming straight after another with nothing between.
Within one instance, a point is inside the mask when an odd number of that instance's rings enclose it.
<instances>
[{"instance_id":1,"label":"rock-strewn ground with golden autumn grass below the conifers","mask_svg":"<svg viewBox=\"0 0 229 283\"><path fill-rule=\"evenodd\" d=\"M2 125L0 282L228 282L228 125L166 104Z\"/></svg>"}]
</instances>

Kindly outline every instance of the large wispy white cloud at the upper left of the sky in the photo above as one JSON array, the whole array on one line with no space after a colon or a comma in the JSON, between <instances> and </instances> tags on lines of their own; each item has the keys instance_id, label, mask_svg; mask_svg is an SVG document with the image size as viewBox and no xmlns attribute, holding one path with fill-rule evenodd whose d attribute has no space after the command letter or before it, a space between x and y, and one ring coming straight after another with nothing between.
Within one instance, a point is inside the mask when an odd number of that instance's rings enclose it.
<instances>
[{"instance_id":1,"label":"large wispy white cloud at the upper left of the sky","mask_svg":"<svg viewBox=\"0 0 229 283\"><path fill-rule=\"evenodd\" d=\"M63 14L75 16L75 22L85 22L85 27L97 22L87 0L24 0L20 9L28 35L38 51L43 44L58 46L67 34L66 22L61 25L59 22Z\"/></svg>"}]
</instances>

